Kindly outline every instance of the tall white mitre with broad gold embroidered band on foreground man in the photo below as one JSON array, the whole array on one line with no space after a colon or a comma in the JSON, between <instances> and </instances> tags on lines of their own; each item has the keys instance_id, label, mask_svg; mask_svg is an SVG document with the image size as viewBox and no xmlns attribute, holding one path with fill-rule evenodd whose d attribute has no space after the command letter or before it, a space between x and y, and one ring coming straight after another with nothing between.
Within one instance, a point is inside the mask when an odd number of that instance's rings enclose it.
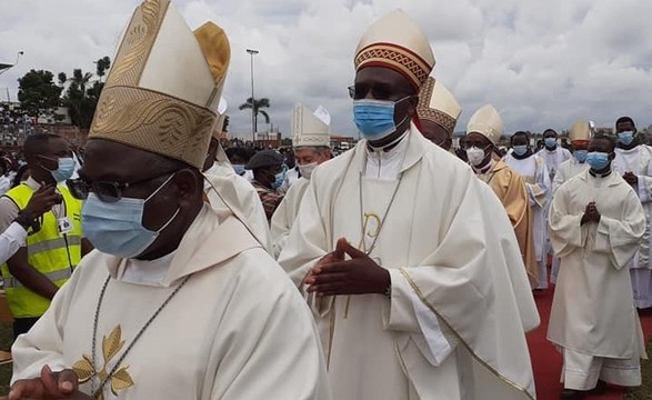
<instances>
[{"instance_id":1,"label":"tall white mitre with broad gold embroidered band on foreground man","mask_svg":"<svg viewBox=\"0 0 652 400\"><path fill-rule=\"evenodd\" d=\"M201 169L231 59L224 31L192 32L169 0L136 9L89 132Z\"/></svg>"}]
</instances>

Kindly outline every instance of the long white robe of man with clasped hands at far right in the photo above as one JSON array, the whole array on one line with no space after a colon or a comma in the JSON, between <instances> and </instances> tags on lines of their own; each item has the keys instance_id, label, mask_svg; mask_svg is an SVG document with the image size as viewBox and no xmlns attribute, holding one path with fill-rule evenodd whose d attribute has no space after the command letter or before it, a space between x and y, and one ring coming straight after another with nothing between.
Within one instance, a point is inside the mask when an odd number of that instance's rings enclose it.
<instances>
[{"instance_id":1,"label":"long white robe of man with clasped hands at far right","mask_svg":"<svg viewBox=\"0 0 652 400\"><path fill-rule=\"evenodd\" d=\"M580 224L595 202L599 223ZM645 213L630 186L616 173L589 171L562 184L550 211L550 240L561 257L548 339L595 357L629 359L645 354L643 332L632 303L626 269L645 231Z\"/></svg>"}]
</instances>

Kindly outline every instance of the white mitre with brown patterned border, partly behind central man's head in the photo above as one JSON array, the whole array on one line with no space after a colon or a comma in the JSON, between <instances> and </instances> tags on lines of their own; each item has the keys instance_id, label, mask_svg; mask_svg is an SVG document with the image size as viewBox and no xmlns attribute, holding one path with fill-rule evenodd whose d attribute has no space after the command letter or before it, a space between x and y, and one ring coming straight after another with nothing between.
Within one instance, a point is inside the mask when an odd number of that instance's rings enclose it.
<instances>
[{"instance_id":1,"label":"white mitre with brown patterned border, partly behind central man's head","mask_svg":"<svg viewBox=\"0 0 652 400\"><path fill-rule=\"evenodd\" d=\"M419 104L417 106L419 118L432 121L452 134L461 113L460 103L447 87L429 77L419 93Z\"/></svg>"}]
</instances>

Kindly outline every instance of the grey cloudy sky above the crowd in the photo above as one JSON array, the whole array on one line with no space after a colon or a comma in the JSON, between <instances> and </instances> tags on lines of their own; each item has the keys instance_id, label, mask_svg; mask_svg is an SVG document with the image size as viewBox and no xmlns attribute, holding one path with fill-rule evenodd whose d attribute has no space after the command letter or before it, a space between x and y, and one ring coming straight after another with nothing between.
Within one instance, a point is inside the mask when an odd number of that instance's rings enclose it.
<instances>
[{"instance_id":1,"label":"grey cloudy sky above the crowd","mask_svg":"<svg viewBox=\"0 0 652 400\"><path fill-rule=\"evenodd\" d=\"M18 66L0 76L0 99L17 98L17 78L30 69L94 71L112 56L138 0L2 0L0 62ZM364 29L402 8L425 31L437 58L434 77L463 107L457 130L491 102L506 132L568 129L592 119L611 127L630 114L652 123L652 34L648 0L177 0L191 28L222 26L232 60L224 97L232 132L250 132L238 106L270 99L274 127L289 131L294 102L325 107L332 131L354 134L347 87ZM648 16L648 17L645 17ZM259 122L260 123L260 122ZM265 129L261 123L259 130Z\"/></svg>"}]
</instances>

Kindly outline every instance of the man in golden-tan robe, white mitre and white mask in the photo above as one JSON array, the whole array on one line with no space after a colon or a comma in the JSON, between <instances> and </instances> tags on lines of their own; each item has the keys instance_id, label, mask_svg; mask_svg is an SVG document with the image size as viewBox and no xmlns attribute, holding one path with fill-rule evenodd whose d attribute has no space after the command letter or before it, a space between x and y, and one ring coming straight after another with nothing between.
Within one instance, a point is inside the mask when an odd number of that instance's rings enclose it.
<instances>
[{"instance_id":1,"label":"man in golden-tan robe, white mitre and white mask","mask_svg":"<svg viewBox=\"0 0 652 400\"><path fill-rule=\"evenodd\" d=\"M465 147L469 163L503 204L514 228L530 284L536 286L536 258L532 239L532 216L525 182L502 160L494 160L495 144L504 132L500 114L491 104L480 108L469 120Z\"/></svg>"}]
</instances>

